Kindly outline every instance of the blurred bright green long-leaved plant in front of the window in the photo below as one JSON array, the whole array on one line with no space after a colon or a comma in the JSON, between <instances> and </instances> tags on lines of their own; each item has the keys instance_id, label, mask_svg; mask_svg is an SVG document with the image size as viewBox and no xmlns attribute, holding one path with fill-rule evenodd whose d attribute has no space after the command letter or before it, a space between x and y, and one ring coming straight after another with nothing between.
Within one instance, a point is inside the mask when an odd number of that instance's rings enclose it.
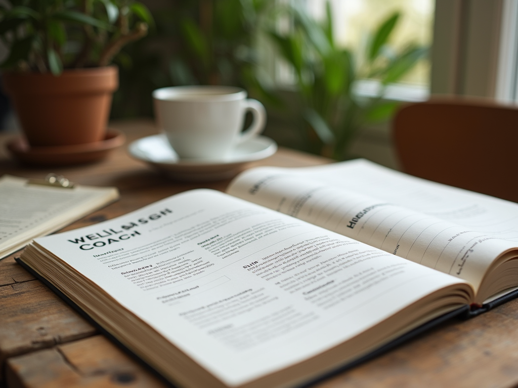
<instances>
[{"instance_id":1,"label":"blurred bright green long-leaved plant in front of the window","mask_svg":"<svg viewBox=\"0 0 518 388\"><path fill-rule=\"evenodd\" d=\"M288 18L291 27L284 34L271 29L269 35L295 73L298 109L306 122L306 151L347 159L362 125L387 120L394 113L397 103L382 98L385 87L404 77L427 48L412 42L400 51L390 46L398 12L381 22L364 52L337 46L329 3L323 21L310 18L298 3L284 9L281 17ZM354 93L355 83L362 79L379 80L374 98Z\"/></svg>"}]
</instances>

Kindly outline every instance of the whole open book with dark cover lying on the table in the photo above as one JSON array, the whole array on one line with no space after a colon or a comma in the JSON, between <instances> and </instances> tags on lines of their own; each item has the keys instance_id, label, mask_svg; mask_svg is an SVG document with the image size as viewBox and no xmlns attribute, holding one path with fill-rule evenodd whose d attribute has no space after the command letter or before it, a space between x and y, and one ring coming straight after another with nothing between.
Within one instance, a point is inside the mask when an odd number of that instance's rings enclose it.
<instances>
[{"instance_id":1,"label":"whole open book with dark cover lying on the table","mask_svg":"<svg viewBox=\"0 0 518 388\"><path fill-rule=\"evenodd\" d=\"M363 160L256 168L228 193L38 238L21 260L185 387L305 383L518 286L514 203Z\"/></svg>"}]
</instances>

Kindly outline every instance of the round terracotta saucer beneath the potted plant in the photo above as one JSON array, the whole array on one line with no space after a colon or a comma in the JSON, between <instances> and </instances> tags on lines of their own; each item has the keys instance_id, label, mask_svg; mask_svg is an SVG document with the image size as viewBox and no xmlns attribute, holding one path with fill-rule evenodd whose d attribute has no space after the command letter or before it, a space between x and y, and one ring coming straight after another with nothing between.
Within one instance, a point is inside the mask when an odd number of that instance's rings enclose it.
<instances>
[{"instance_id":1,"label":"round terracotta saucer beneath the potted plant","mask_svg":"<svg viewBox=\"0 0 518 388\"><path fill-rule=\"evenodd\" d=\"M18 137L7 143L7 149L16 159L30 165L79 165L103 159L114 148L124 144L125 139L124 133L108 129L106 138L96 143L31 147L24 137Z\"/></svg>"}]
</instances>

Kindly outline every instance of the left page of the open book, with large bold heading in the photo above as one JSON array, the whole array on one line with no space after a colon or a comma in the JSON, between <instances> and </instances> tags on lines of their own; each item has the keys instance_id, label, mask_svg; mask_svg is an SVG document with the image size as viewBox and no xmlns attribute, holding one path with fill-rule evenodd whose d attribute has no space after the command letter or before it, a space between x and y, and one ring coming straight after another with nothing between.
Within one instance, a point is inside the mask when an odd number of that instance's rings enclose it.
<instances>
[{"instance_id":1,"label":"left page of the open book, with large bold heading","mask_svg":"<svg viewBox=\"0 0 518 388\"><path fill-rule=\"evenodd\" d=\"M228 386L318 355L434 291L457 290L426 319L472 297L454 277L212 190L39 238L36 246ZM437 295L433 301L420 308Z\"/></svg>"}]
</instances>

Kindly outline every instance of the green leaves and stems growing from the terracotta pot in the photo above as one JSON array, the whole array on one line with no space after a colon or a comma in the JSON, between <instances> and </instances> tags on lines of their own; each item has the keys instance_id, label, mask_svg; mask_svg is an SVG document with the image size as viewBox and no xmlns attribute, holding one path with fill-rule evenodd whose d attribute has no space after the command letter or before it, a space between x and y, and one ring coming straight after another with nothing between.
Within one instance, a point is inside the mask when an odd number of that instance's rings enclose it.
<instances>
[{"instance_id":1,"label":"green leaves and stems growing from the terracotta pot","mask_svg":"<svg viewBox=\"0 0 518 388\"><path fill-rule=\"evenodd\" d=\"M52 72L106 66L121 48L148 32L153 19L133 0L7 0L0 4L0 65Z\"/></svg>"}]
</instances>

